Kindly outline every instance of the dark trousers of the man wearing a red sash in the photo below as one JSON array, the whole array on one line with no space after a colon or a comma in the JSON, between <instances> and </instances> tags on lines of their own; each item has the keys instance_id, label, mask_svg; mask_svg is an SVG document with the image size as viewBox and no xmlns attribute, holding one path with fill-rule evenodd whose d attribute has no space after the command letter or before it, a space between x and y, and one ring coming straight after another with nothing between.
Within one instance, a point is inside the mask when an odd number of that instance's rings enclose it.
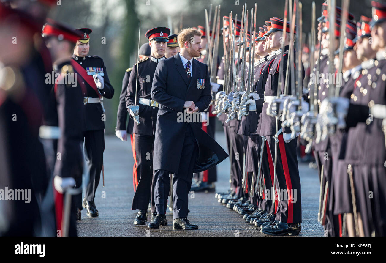
<instances>
[{"instance_id":1,"label":"dark trousers of the man wearing a red sash","mask_svg":"<svg viewBox=\"0 0 386 263\"><path fill-rule=\"evenodd\" d=\"M88 201L94 201L95 192L100 180L100 172L103 166L103 151L105 150L104 130L85 131L84 153L86 159L86 175L89 180L86 185L85 197Z\"/></svg>"}]
</instances>

